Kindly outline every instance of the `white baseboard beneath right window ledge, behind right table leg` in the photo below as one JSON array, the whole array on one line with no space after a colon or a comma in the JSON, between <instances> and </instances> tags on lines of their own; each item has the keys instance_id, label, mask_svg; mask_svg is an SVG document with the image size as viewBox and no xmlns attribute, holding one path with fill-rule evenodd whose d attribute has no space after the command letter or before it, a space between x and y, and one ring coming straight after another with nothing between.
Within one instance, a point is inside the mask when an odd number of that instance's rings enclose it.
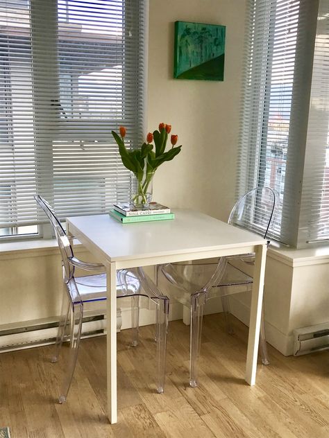
<instances>
[{"instance_id":1,"label":"white baseboard beneath right window ledge, behind right table leg","mask_svg":"<svg viewBox=\"0 0 329 438\"><path fill-rule=\"evenodd\" d=\"M241 322L249 326L250 308L239 301L238 297L230 297L230 311ZM284 356L292 356L294 351L294 336L285 335L265 320L266 340Z\"/></svg>"}]
</instances>

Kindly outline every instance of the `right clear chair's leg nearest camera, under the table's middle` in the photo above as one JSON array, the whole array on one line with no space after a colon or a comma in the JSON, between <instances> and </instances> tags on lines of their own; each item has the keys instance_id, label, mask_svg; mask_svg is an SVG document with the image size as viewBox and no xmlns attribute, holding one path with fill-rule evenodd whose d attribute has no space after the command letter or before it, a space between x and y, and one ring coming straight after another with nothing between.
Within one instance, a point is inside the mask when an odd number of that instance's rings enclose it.
<instances>
[{"instance_id":1,"label":"right clear chair's leg nearest camera, under the table's middle","mask_svg":"<svg viewBox=\"0 0 329 438\"><path fill-rule=\"evenodd\" d=\"M189 338L189 385L198 386L198 359L201 349L201 332L205 292L199 292L191 297L191 326Z\"/></svg>"}]
</instances>

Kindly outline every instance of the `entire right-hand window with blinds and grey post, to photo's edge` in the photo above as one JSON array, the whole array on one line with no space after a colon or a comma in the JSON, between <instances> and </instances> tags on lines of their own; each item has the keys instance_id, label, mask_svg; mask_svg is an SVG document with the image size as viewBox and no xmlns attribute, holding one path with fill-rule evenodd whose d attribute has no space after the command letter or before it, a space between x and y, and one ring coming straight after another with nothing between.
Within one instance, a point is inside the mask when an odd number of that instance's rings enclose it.
<instances>
[{"instance_id":1,"label":"entire right-hand window with blinds and grey post, to photo's edge","mask_svg":"<svg viewBox=\"0 0 329 438\"><path fill-rule=\"evenodd\" d=\"M238 194L276 189L296 247L329 238L328 23L328 0L248 1Z\"/></svg>"}]
</instances>

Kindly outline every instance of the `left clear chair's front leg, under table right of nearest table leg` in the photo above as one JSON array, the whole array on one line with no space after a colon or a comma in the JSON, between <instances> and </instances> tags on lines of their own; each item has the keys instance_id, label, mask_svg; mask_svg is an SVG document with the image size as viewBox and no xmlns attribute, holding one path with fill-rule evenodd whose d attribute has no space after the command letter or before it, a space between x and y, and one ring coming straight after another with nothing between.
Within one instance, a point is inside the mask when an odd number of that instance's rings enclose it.
<instances>
[{"instance_id":1,"label":"left clear chair's front leg, under table right of nearest table leg","mask_svg":"<svg viewBox=\"0 0 329 438\"><path fill-rule=\"evenodd\" d=\"M169 317L169 299L158 299L156 307L156 349L157 349L157 367L158 383L157 392L162 394L165 389L165 368L166 368L166 351L167 351L167 333Z\"/></svg>"}]
</instances>

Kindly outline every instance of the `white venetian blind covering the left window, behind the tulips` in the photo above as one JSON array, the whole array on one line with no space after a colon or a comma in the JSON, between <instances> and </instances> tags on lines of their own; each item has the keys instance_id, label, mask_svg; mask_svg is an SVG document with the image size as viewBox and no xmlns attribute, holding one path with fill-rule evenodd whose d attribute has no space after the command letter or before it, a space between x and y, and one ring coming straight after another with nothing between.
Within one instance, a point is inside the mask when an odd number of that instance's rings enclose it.
<instances>
[{"instance_id":1,"label":"white venetian blind covering the left window, behind the tulips","mask_svg":"<svg viewBox=\"0 0 329 438\"><path fill-rule=\"evenodd\" d=\"M126 201L111 130L144 131L143 0L0 0L0 227Z\"/></svg>"}]
</instances>

